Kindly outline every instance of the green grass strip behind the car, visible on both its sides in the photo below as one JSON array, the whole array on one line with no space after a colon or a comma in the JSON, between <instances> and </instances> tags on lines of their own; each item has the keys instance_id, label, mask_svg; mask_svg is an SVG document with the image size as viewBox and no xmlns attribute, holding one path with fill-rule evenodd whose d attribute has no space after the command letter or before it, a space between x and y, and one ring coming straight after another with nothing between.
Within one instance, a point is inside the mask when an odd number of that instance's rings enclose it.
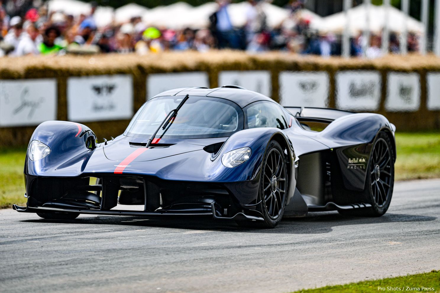
<instances>
[{"instance_id":1,"label":"green grass strip behind the car, visible on both its sides","mask_svg":"<svg viewBox=\"0 0 440 293\"><path fill-rule=\"evenodd\" d=\"M440 178L440 132L396 133L396 180ZM25 205L26 149L0 150L0 208Z\"/></svg>"}]
</instances>

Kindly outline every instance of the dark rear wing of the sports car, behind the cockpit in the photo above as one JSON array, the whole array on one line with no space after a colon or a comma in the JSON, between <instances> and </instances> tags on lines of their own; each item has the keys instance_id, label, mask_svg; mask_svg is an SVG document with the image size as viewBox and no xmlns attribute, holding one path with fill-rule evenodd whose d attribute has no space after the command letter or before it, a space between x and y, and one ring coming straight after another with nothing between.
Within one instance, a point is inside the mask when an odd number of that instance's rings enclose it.
<instances>
[{"instance_id":1,"label":"dark rear wing of the sports car, behind the cockpit","mask_svg":"<svg viewBox=\"0 0 440 293\"><path fill-rule=\"evenodd\" d=\"M316 107L284 107L290 114L295 116L298 120L301 118L307 118L308 121L317 122L332 122L339 117L353 114L356 112L345 111L333 108L316 108Z\"/></svg>"}]
</instances>

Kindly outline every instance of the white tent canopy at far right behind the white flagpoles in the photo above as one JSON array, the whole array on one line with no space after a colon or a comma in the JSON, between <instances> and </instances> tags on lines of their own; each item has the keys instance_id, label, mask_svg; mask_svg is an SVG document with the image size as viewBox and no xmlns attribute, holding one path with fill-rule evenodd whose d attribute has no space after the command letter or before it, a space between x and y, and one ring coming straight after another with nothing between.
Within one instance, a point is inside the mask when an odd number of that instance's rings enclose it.
<instances>
[{"instance_id":1,"label":"white tent canopy at far right behind the white flagpoles","mask_svg":"<svg viewBox=\"0 0 440 293\"><path fill-rule=\"evenodd\" d=\"M385 6L370 5L370 31L380 33L385 24ZM348 19L350 21L350 33L352 36L357 35L360 31L367 29L367 9L364 4L358 5L348 10ZM344 12L329 15L323 18L323 28L321 30L334 33L342 33L345 29L347 21ZM403 23L405 15L399 9L390 6L388 11L389 30L396 33L403 31ZM423 33L422 22L408 16L408 31L414 33Z\"/></svg>"}]
</instances>

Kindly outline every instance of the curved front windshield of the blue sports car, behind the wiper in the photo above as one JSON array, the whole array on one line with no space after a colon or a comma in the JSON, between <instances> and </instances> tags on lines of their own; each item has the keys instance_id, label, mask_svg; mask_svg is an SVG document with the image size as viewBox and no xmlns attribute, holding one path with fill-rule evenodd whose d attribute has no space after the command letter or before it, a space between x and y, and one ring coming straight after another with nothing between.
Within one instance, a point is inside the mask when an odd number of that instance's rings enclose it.
<instances>
[{"instance_id":1,"label":"curved front windshield of the blue sports car, behind the wiper","mask_svg":"<svg viewBox=\"0 0 440 293\"><path fill-rule=\"evenodd\" d=\"M184 96L165 96L150 99L133 117L124 135L150 137L183 98ZM229 100L190 96L163 137L227 137L242 130L243 121L242 109ZM161 128L156 137L160 137L163 132Z\"/></svg>"}]
</instances>

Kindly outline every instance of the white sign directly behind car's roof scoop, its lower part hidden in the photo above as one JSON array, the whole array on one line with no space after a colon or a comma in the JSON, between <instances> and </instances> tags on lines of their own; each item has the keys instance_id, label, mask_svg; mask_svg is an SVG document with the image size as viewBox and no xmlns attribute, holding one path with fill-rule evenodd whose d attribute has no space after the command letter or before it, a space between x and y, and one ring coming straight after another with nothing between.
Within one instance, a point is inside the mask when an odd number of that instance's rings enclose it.
<instances>
[{"instance_id":1,"label":"white sign directly behind car's roof scoop, its lower part hidden","mask_svg":"<svg viewBox=\"0 0 440 293\"><path fill-rule=\"evenodd\" d=\"M219 86L239 85L248 90L271 96L271 73L266 70L222 71L219 73Z\"/></svg>"}]
</instances>

